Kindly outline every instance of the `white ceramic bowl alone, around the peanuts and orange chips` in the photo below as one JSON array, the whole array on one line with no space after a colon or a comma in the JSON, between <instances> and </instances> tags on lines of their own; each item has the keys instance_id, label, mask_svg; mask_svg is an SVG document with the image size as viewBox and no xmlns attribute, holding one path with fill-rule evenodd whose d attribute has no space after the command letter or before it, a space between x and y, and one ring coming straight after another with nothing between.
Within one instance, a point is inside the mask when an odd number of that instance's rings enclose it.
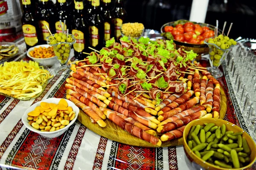
<instances>
[{"instance_id":1,"label":"white ceramic bowl alone, around the peanuts and orange chips","mask_svg":"<svg viewBox=\"0 0 256 170\"><path fill-rule=\"evenodd\" d=\"M45 136L45 137L48 137L48 138L56 138L58 136L60 136L61 134L63 134L64 132L67 131L67 129L76 121L77 119L77 116L79 114L79 108L71 101L65 99L67 101L67 104L68 106L71 106L73 108L73 111L76 113L76 116L75 118L67 125L65 126L63 129L59 129L59 130L56 130L56 131L53 131L53 132L42 132L40 130L37 130L35 129L34 127L30 126L29 125L29 120L27 119L28 118L28 113L31 112L31 111L34 111L35 108L37 106L40 106L40 103L41 102L47 102L47 103L55 103L55 104L58 104L58 102L61 100L61 98L49 98L49 99L45 99L43 101L40 101L40 102L37 102L35 103L34 105L30 106L26 111L25 113L23 114L21 120L23 122L23 124L26 126L26 128L28 128L29 130L35 132L35 133L38 133L42 136Z\"/></svg>"}]
</instances>

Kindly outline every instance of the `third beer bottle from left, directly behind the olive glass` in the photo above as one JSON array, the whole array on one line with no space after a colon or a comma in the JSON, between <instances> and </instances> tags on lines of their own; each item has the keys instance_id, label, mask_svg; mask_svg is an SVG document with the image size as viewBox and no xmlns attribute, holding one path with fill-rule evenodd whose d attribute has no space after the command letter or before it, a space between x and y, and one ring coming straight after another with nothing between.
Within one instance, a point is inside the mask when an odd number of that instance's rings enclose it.
<instances>
[{"instance_id":1,"label":"third beer bottle from left, directly behind the olive glass","mask_svg":"<svg viewBox=\"0 0 256 170\"><path fill-rule=\"evenodd\" d=\"M64 32L66 32L67 28L71 30L70 23L70 11L68 10L68 3L66 0L57 0L57 12L56 12L56 20L55 20L55 30L56 33L62 32L61 24L64 28ZM60 21L61 20L61 23ZM64 20L66 20L66 24L64 26Z\"/></svg>"}]
</instances>

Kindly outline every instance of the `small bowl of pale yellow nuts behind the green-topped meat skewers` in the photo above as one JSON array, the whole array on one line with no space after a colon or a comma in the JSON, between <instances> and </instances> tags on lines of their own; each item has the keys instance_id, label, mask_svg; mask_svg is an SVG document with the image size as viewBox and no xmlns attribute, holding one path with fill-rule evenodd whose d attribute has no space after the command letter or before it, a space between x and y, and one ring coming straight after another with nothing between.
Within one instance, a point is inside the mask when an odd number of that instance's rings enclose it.
<instances>
[{"instance_id":1,"label":"small bowl of pale yellow nuts behind the green-topped meat skewers","mask_svg":"<svg viewBox=\"0 0 256 170\"><path fill-rule=\"evenodd\" d=\"M126 36L129 38L140 38L144 33L145 28L142 23L124 23L121 26L122 37Z\"/></svg>"}]
</instances>

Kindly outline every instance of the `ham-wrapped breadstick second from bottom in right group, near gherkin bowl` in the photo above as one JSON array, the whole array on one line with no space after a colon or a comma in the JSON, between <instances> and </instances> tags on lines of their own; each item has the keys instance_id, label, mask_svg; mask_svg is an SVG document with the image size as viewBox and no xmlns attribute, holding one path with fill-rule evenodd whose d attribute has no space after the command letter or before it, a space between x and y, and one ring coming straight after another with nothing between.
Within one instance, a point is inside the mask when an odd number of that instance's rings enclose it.
<instances>
[{"instance_id":1,"label":"ham-wrapped breadstick second from bottom in right group, near gherkin bowl","mask_svg":"<svg viewBox=\"0 0 256 170\"><path fill-rule=\"evenodd\" d=\"M177 119L173 122L170 122L165 125L157 127L157 132L165 133L165 132L169 132L171 130L175 130L179 127L182 127L183 125L187 125L192 120L199 119L199 118L203 117L204 115L206 115L206 113L207 113L206 111L199 111L199 112L193 113L189 116L185 116L181 119Z\"/></svg>"}]
</instances>

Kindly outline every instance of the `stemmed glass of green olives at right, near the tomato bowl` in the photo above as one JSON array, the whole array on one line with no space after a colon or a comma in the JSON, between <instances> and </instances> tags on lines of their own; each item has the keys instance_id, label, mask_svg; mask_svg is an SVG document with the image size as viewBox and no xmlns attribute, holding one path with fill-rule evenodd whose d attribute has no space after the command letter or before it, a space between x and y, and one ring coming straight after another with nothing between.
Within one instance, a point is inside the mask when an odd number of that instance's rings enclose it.
<instances>
[{"instance_id":1,"label":"stemmed glass of green olives at right, near the tomato bowl","mask_svg":"<svg viewBox=\"0 0 256 170\"><path fill-rule=\"evenodd\" d=\"M214 37L212 37L214 39ZM218 47L216 44L209 43L209 39L205 39L204 43L208 45L209 47L209 55L210 55L210 65L211 67L208 67L207 70L212 74L213 77L219 78L223 76L223 72L219 69L219 66L224 61L224 59L227 57L227 54L229 53L232 46L222 49ZM218 55L216 55L218 54Z\"/></svg>"}]
</instances>

